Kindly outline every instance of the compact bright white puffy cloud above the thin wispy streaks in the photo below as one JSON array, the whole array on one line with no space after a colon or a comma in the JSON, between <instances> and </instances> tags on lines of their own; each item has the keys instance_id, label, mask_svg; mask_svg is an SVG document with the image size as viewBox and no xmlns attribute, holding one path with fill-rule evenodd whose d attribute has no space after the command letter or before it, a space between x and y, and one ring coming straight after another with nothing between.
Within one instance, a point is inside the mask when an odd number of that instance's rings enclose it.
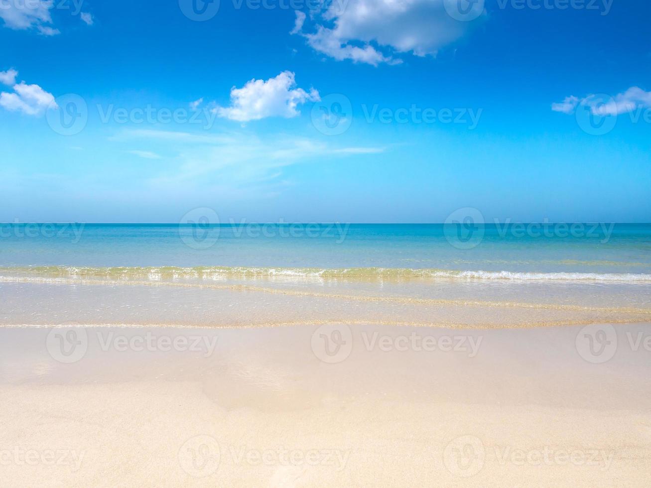
<instances>
[{"instance_id":1,"label":"compact bright white puffy cloud above the thin wispy streaks","mask_svg":"<svg viewBox=\"0 0 651 488\"><path fill-rule=\"evenodd\" d=\"M242 88L231 88L230 107L217 107L217 115L247 122L264 117L295 117L299 115L298 105L320 100L318 91L309 92L296 87L294 73L284 71L267 81L252 79Z\"/></svg>"}]
</instances>

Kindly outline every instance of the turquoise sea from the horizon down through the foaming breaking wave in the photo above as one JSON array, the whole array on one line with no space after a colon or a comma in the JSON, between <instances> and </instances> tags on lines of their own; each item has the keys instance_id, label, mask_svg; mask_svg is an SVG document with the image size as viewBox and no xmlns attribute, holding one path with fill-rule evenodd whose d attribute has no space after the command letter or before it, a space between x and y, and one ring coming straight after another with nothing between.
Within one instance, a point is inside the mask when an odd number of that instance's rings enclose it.
<instances>
[{"instance_id":1,"label":"turquoise sea from the horizon down through the foaming breaking wave","mask_svg":"<svg viewBox=\"0 0 651 488\"><path fill-rule=\"evenodd\" d=\"M0 267L44 266L646 280L651 225L0 224Z\"/></svg>"}]
</instances>

